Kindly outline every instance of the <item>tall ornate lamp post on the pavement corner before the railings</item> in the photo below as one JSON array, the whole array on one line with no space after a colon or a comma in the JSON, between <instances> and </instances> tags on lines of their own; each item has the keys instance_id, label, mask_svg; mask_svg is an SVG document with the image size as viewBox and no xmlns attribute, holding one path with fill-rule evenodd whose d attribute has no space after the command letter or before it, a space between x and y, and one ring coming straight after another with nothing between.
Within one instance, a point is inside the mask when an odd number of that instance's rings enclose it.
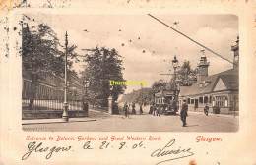
<instances>
[{"instance_id":1,"label":"tall ornate lamp post on the pavement corner before the railings","mask_svg":"<svg viewBox=\"0 0 256 165\"><path fill-rule=\"evenodd\" d=\"M68 33L66 31L65 34L65 87L64 87L64 110L62 113L62 119L65 122L69 121L69 115L68 115L68 101L67 101L67 94L68 94L68 77L67 77L67 61L68 61Z\"/></svg>"}]
</instances>

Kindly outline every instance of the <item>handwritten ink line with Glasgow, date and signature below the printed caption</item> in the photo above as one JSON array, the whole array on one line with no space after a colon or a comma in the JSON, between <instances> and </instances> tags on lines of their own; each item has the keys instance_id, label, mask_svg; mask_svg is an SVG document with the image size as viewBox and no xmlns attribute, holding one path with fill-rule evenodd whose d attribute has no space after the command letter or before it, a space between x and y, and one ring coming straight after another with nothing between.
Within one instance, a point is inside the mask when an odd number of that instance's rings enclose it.
<instances>
[{"instance_id":1,"label":"handwritten ink line with Glasgow, date and signature below the printed caption","mask_svg":"<svg viewBox=\"0 0 256 165\"><path fill-rule=\"evenodd\" d=\"M163 164L164 162L168 162L171 160L182 159L194 155L194 152L190 147L181 148L181 146L177 147L175 145L177 145L175 143L175 139L171 139L163 147L157 148L151 153L151 157L160 159L160 161L157 162L156 165ZM141 150L146 149L147 147L145 145L145 141L143 140L135 142L119 141L117 143L104 140L99 142L98 144L88 140L82 142L80 148L83 150ZM74 147L71 145L47 146L41 141L32 141L28 143L26 153L23 154L22 160L27 160L32 154L41 154L45 157L45 159L50 159L55 154L69 154L72 151L74 151Z\"/></svg>"}]
</instances>

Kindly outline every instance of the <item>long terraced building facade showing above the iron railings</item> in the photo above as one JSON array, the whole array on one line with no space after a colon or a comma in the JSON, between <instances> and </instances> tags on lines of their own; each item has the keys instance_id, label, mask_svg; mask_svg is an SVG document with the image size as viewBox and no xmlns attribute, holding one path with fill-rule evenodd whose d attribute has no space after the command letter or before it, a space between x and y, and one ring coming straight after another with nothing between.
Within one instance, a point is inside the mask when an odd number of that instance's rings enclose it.
<instances>
[{"instance_id":1,"label":"long terraced building facade showing above the iron railings","mask_svg":"<svg viewBox=\"0 0 256 165\"><path fill-rule=\"evenodd\" d=\"M35 98L42 100L64 100L64 78L53 74L44 74L36 81ZM23 70L22 98L30 99L32 93L32 79L28 71ZM81 100L83 83L75 74L68 76L68 99Z\"/></svg>"}]
</instances>

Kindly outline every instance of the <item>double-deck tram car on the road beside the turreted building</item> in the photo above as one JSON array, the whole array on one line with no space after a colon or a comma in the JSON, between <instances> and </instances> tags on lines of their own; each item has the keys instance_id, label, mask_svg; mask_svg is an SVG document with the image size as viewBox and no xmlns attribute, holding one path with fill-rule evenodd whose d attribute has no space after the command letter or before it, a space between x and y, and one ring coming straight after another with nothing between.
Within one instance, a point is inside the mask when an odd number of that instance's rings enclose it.
<instances>
[{"instance_id":1,"label":"double-deck tram car on the road beside the turreted building","mask_svg":"<svg viewBox=\"0 0 256 165\"><path fill-rule=\"evenodd\" d=\"M173 91L163 90L156 93L154 103L157 108L160 108L160 114L176 115L178 111L178 102Z\"/></svg>"}]
</instances>

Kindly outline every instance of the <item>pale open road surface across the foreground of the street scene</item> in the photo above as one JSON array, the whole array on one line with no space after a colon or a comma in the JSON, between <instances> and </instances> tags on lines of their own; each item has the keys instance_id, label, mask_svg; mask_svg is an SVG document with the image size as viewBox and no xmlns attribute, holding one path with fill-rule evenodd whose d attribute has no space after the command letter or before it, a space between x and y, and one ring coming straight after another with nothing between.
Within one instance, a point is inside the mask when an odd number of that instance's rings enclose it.
<instances>
[{"instance_id":1,"label":"pale open road surface across the foreground of the street scene","mask_svg":"<svg viewBox=\"0 0 256 165\"><path fill-rule=\"evenodd\" d=\"M68 131L68 132L236 132L238 116L224 116L203 113L189 113L187 127L182 127L180 117L152 116L150 114L108 115L90 111L89 116L95 121L72 123L48 123L23 125L25 131Z\"/></svg>"}]
</instances>

